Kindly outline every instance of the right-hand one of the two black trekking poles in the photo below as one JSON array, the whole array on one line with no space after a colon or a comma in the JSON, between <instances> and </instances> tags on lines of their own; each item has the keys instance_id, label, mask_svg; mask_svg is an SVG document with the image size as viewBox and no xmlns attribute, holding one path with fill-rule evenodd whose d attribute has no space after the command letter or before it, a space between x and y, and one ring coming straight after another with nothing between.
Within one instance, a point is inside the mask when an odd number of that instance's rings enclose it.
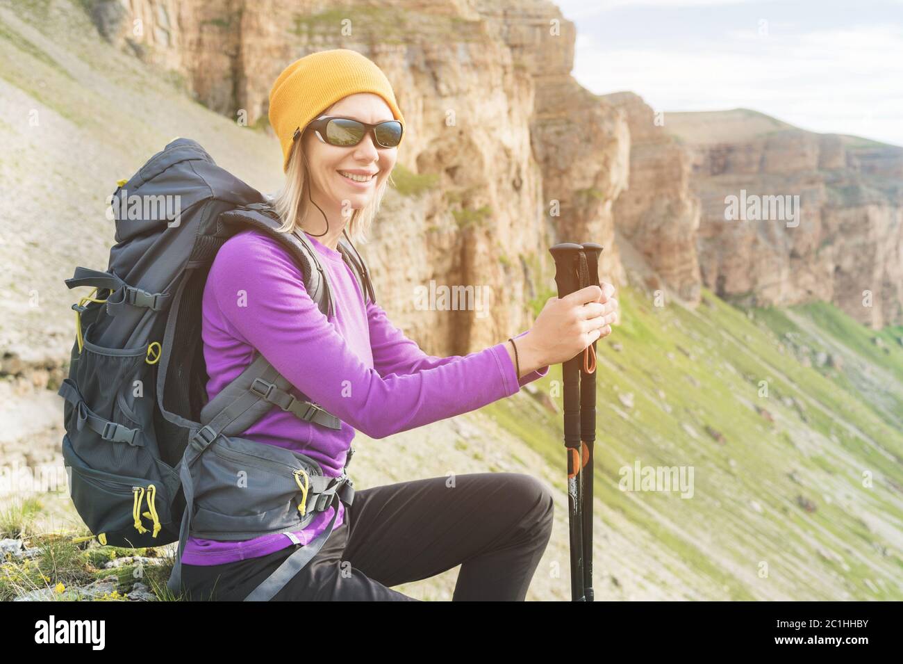
<instances>
[{"instance_id":1,"label":"right-hand one of the two black trekking poles","mask_svg":"<svg viewBox=\"0 0 903 664\"><path fill-rule=\"evenodd\" d=\"M595 242L583 243L583 255L586 257L588 283L599 284L599 255L601 245ZM592 456L596 444L596 341L583 351L583 362L580 372L580 426L582 445L581 500L582 500L582 539L583 539L583 593L587 602L592 602Z\"/></svg>"}]
</instances>

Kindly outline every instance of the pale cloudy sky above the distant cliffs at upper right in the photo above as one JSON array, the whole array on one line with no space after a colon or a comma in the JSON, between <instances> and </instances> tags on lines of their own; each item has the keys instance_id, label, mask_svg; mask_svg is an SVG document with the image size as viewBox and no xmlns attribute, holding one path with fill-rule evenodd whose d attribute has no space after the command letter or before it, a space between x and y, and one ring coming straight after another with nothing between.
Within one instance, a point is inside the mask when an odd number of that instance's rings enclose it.
<instances>
[{"instance_id":1,"label":"pale cloudy sky above the distant cliffs at upper right","mask_svg":"<svg viewBox=\"0 0 903 664\"><path fill-rule=\"evenodd\" d=\"M596 94L903 145L903 0L553 2L577 26L573 76Z\"/></svg>"}]
</instances>

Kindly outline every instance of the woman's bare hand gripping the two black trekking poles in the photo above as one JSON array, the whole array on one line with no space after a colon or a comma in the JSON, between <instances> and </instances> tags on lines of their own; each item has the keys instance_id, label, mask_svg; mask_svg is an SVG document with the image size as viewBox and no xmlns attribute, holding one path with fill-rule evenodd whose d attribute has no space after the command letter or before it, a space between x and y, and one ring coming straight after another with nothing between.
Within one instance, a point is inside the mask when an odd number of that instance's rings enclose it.
<instances>
[{"instance_id":1,"label":"woman's bare hand gripping the two black trekking poles","mask_svg":"<svg viewBox=\"0 0 903 664\"><path fill-rule=\"evenodd\" d=\"M530 331L515 340L522 375L570 360L593 341L607 337L619 321L613 285L588 285L564 297L550 297Z\"/></svg>"}]
</instances>

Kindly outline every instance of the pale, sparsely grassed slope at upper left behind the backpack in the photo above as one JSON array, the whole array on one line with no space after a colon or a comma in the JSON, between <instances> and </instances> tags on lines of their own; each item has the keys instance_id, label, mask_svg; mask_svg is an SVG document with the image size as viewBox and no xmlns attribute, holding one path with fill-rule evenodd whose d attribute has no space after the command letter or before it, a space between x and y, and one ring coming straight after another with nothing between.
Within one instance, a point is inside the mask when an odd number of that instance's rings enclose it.
<instances>
[{"instance_id":1,"label":"pale, sparsely grassed slope at upper left behind the backpack","mask_svg":"<svg viewBox=\"0 0 903 664\"><path fill-rule=\"evenodd\" d=\"M74 320L56 312L76 292L63 280L75 265L107 267L107 196L175 136L197 140L262 192L281 182L275 137L201 106L175 82L104 42L76 0L0 4L3 351L68 356Z\"/></svg>"}]
</instances>

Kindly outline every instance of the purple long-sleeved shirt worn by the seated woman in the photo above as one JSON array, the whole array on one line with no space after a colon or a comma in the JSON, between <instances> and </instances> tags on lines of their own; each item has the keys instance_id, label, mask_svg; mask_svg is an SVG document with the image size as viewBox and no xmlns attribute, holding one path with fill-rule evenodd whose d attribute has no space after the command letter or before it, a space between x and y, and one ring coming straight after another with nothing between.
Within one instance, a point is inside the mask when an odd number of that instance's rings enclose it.
<instances>
[{"instance_id":1,"label":"purple long-sleeved shirt worn by the seated woman","mask_svg":"<svg viewBox=\"0 0 903 664\"><path fill-rule=\"evenodd\" d=\"M306 454L324 474L337 477L355 430L372 438L397 434L509 397L548 373L545 366L518 380L507 341L466 356L426 355L389 323L381 307L364 305L358 280L339 251L307 237L329 272L336 302L329 318L275 239L249 229L219 248L201 304L207 393L216 397L247 368L257 349L292 384L295 397L300 389L339 417L341 428L313 425L273 407L241 437ZM333 510L324 510L298 532L243 541L190 537L182 563L221 565L307 544L326 529ZM333 528L344 522L344 513L340 503Z\"/></svg>"}]
</instances>

